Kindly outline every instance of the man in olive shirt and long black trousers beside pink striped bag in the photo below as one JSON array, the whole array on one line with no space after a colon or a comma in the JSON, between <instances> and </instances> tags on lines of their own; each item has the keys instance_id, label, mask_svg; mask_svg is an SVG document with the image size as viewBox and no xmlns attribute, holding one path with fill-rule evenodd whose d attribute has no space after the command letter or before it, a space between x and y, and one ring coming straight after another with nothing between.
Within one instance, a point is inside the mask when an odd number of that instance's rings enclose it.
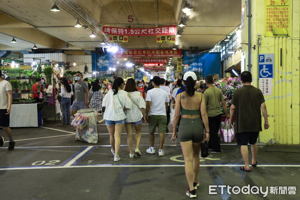
<instances>
[{"instance_id":1,"label":"man in olive shirt and long black trousers beside pink striped bag","mask_svg":"<svg viewBox=\"0 0 300 200\"><path fill-rule=\"evenodd\" d=\"M211 153L221 153L221 145L217 136L217 132L221 123L221 106L220 102L225 111L225 115L229 118L227 111L227 105L224 100L222 91L219 88L213 86L213 77L212 75L205 76L205 83L207 89L204 91L204 98L206 103L206 112L208 116L208 125L209 125L209 141L208 147L209 152Z\"/></svg>"}]
</instances>

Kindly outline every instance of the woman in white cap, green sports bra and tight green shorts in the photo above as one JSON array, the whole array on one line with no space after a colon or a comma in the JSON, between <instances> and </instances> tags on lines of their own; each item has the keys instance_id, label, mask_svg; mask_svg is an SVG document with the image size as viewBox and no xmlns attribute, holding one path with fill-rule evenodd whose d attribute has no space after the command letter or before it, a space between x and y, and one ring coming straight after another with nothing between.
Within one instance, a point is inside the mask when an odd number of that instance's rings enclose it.
<instances>
[{"instance_id":1,"label":"woman in white cap, green sports bra and tight green shorts","mask_svg":"<svg viewBox=\"0 0 300 200\"><path fill-rule=\"evenodd\" d=\"M180 110L181 119L179 124L179 141L184 157L185 176L188 182L188 190L186 195L196 197L197 175L199 171L199 152L200 142L203 140L203 123L206 129L206 137L204 141L209 140L208 118L205 109L205 99L202 93L195 92L196 74L188 71L183 75L183 83L186 90L176 96L175 114L173 119L172 140L177 137L176 127L179 120Z\"/></svg>"}]
</instances>

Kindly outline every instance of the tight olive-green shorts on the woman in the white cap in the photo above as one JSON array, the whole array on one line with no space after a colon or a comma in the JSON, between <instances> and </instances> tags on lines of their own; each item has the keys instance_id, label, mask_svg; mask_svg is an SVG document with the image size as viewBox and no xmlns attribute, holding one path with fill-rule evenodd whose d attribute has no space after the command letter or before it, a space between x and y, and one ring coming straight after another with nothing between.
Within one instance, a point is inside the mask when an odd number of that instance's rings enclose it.
<instances>
[{"instance_id":1,"label":"tight olive-green shorts on the woman in the white cap","mask_svg":"<svg viewBox=\"0 0 300 200\"><path fill-rule=\"evenodd\" d=\"M203 125L201 118L182 118L180 119L179 141L189 141L200 143L203 140Z\"/></svg>"}]
</instances>

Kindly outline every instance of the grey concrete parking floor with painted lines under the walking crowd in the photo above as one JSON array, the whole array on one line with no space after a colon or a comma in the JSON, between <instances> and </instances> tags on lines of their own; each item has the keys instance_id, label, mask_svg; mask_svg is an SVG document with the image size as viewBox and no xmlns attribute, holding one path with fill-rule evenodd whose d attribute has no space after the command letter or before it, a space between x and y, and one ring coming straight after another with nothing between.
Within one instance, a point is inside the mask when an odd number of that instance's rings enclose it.
<instances>
[{"instance_id":1,"label":"grey concrete parking floor with painted lines under the walking crowd","mask_svg":"<svg viewBox=\"0 0 300 200\"><path fill-rule=\"evenodd\" d=\"M121 135L121 160L113 162L109 134L104 121L98 125L100 141L89 144L75 141L73 127L46 122L38 128L12 128L16 147L7 151L8 142L0 148L0 200L22 199L188 199L184 162L180 145L165 134L165 155L145 152L149 146L147 125L142 125L141 157L129 158L125 128ZM169 125L171 130L171 125ZM134 143L134 142L133 142ZM155 144L158 135L155 134ZM200 159L198 199L300 199L299 153L266 152L258 145L258 165L251 172L243 166L239 147L222 144L221 154ZM280 145L280 148L284 145ZM158 146L156 146L157 151ZM249 158L250 155L249 155ZM262 187L268 194L234 194L217 187L209 194L209 185ZM287 194L270 194L270 186L287 186ZM295 194L288 194L290 186ZM253 187L253 193L255 188ZM285 188L280 191L285 191ZM237 191L237 190L235 190ZM244 190L246 191L246 190Z\"/></svg>"}]
</instances>

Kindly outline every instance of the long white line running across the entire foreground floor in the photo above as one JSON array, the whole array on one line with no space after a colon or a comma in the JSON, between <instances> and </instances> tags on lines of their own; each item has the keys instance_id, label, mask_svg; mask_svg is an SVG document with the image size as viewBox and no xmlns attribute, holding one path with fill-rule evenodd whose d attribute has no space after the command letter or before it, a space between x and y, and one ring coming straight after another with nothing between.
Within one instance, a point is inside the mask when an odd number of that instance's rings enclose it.
<instances>
[{"instance_id":1,"label":"long white line running across the entire foreground floor","mask_svg":"<svg viewBox=\"0 0 300 200\"><path fill-rule=\"evenodd\" d=\"M24 169L57 169L57 168L87 168L87 167L183 167L184 164L90 164L72 166L16 166L0 167L1 170L24 170ZM200 167L239 167L244 164L200 164ZM300 167L299 164L258 164L261 167Z\"/></svg>"}]
</instances>

